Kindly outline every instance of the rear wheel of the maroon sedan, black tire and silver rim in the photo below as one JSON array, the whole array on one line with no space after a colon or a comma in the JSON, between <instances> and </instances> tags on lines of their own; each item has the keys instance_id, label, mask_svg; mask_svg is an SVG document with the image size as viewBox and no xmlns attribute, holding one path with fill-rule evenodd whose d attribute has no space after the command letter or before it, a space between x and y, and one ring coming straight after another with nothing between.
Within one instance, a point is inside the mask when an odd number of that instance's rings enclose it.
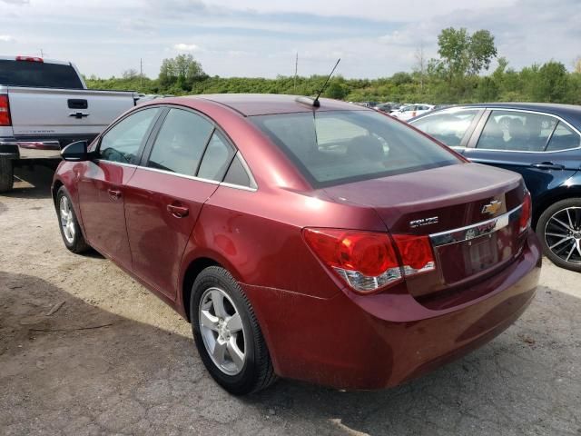
<instances>
[{"instance_id":1,"label":"rear wheel of the maroon sedan, black tire and silver rim","mask_svg":"<svg viewBox=\"0 0 581 436\"><path fill-rule=\"evenodd\" d=\"M229 272L210 266L196 277L190 319L202 362L226 391L243 395L276 381L251 303Z\"/></svg>"}]
</instances>

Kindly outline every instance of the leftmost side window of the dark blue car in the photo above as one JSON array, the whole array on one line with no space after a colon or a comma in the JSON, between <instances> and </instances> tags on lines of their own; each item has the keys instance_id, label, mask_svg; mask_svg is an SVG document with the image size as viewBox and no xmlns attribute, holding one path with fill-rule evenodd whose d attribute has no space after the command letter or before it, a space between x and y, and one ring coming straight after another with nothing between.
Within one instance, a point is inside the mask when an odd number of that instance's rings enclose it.
<instances>
[{"instance_id":1,"label":"leftmost side window of the dark blue car","mask_svg":"<svg viewBox=\"0 0 581 436\"><path fill-rule=\"evenodd\" d=\"M472 109L433 114L413 125L450 147L458 147L477 114L478 110Z\"/></svg>"}]
</instances>

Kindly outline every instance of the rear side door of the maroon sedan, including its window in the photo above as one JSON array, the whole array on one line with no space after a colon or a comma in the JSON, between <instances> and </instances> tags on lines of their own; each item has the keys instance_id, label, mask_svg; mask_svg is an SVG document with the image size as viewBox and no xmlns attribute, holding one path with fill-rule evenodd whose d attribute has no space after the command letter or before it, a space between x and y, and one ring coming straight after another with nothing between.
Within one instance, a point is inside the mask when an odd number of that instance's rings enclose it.
<instances>
[{"instance_id":1,"label":"rear side door of the maroon sedan, including its window","mask_svg":"<svg viewBox=\"0 0 581 436\"><path fill-rule=\"evenodd\" d=\"M172 107L127 185L133 271L172 300L193 226L234 154L212 121Z\"/></svg>"}]
</instances>

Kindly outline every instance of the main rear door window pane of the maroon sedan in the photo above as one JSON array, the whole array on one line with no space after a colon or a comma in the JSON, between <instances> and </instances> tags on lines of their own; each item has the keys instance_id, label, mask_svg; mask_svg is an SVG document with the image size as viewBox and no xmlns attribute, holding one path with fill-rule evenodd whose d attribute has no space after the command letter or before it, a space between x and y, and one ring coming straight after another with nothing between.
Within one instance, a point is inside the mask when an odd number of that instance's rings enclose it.
<instances>
[{"instance_id":1,"label":"main rear door window pane of the maroon sedan","mask_svg":"<svg viewBox=\"0 0 581 436\"><path fill-rule=\"evenodd\" d=\"M153 143L147 166L194 176L213 131L213 124L198 114L171 109Z\"/></svg>"}]
</instances>

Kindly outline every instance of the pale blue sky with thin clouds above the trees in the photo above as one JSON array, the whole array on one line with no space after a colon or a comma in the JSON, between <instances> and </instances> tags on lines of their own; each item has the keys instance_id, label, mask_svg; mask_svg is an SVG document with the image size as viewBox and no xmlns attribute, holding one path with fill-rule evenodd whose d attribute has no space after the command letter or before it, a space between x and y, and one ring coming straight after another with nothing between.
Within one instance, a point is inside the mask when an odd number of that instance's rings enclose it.
<instances>
[{"instance_id":1,"label":"pale blue sky with thin clouds above the trees","mask_svg":"<svg viewBox=\"0 0 581 436\"><path fill-rule=\"evenodd\" d=\"M581 55L581 0L0 0L0 55L71 61L87 76L156 77L192 54L207 74L386 77L437 56L445 27L487 29L520 69ZM494 66L494 64L493 64Z\"/></svg>"}]
</instances>

